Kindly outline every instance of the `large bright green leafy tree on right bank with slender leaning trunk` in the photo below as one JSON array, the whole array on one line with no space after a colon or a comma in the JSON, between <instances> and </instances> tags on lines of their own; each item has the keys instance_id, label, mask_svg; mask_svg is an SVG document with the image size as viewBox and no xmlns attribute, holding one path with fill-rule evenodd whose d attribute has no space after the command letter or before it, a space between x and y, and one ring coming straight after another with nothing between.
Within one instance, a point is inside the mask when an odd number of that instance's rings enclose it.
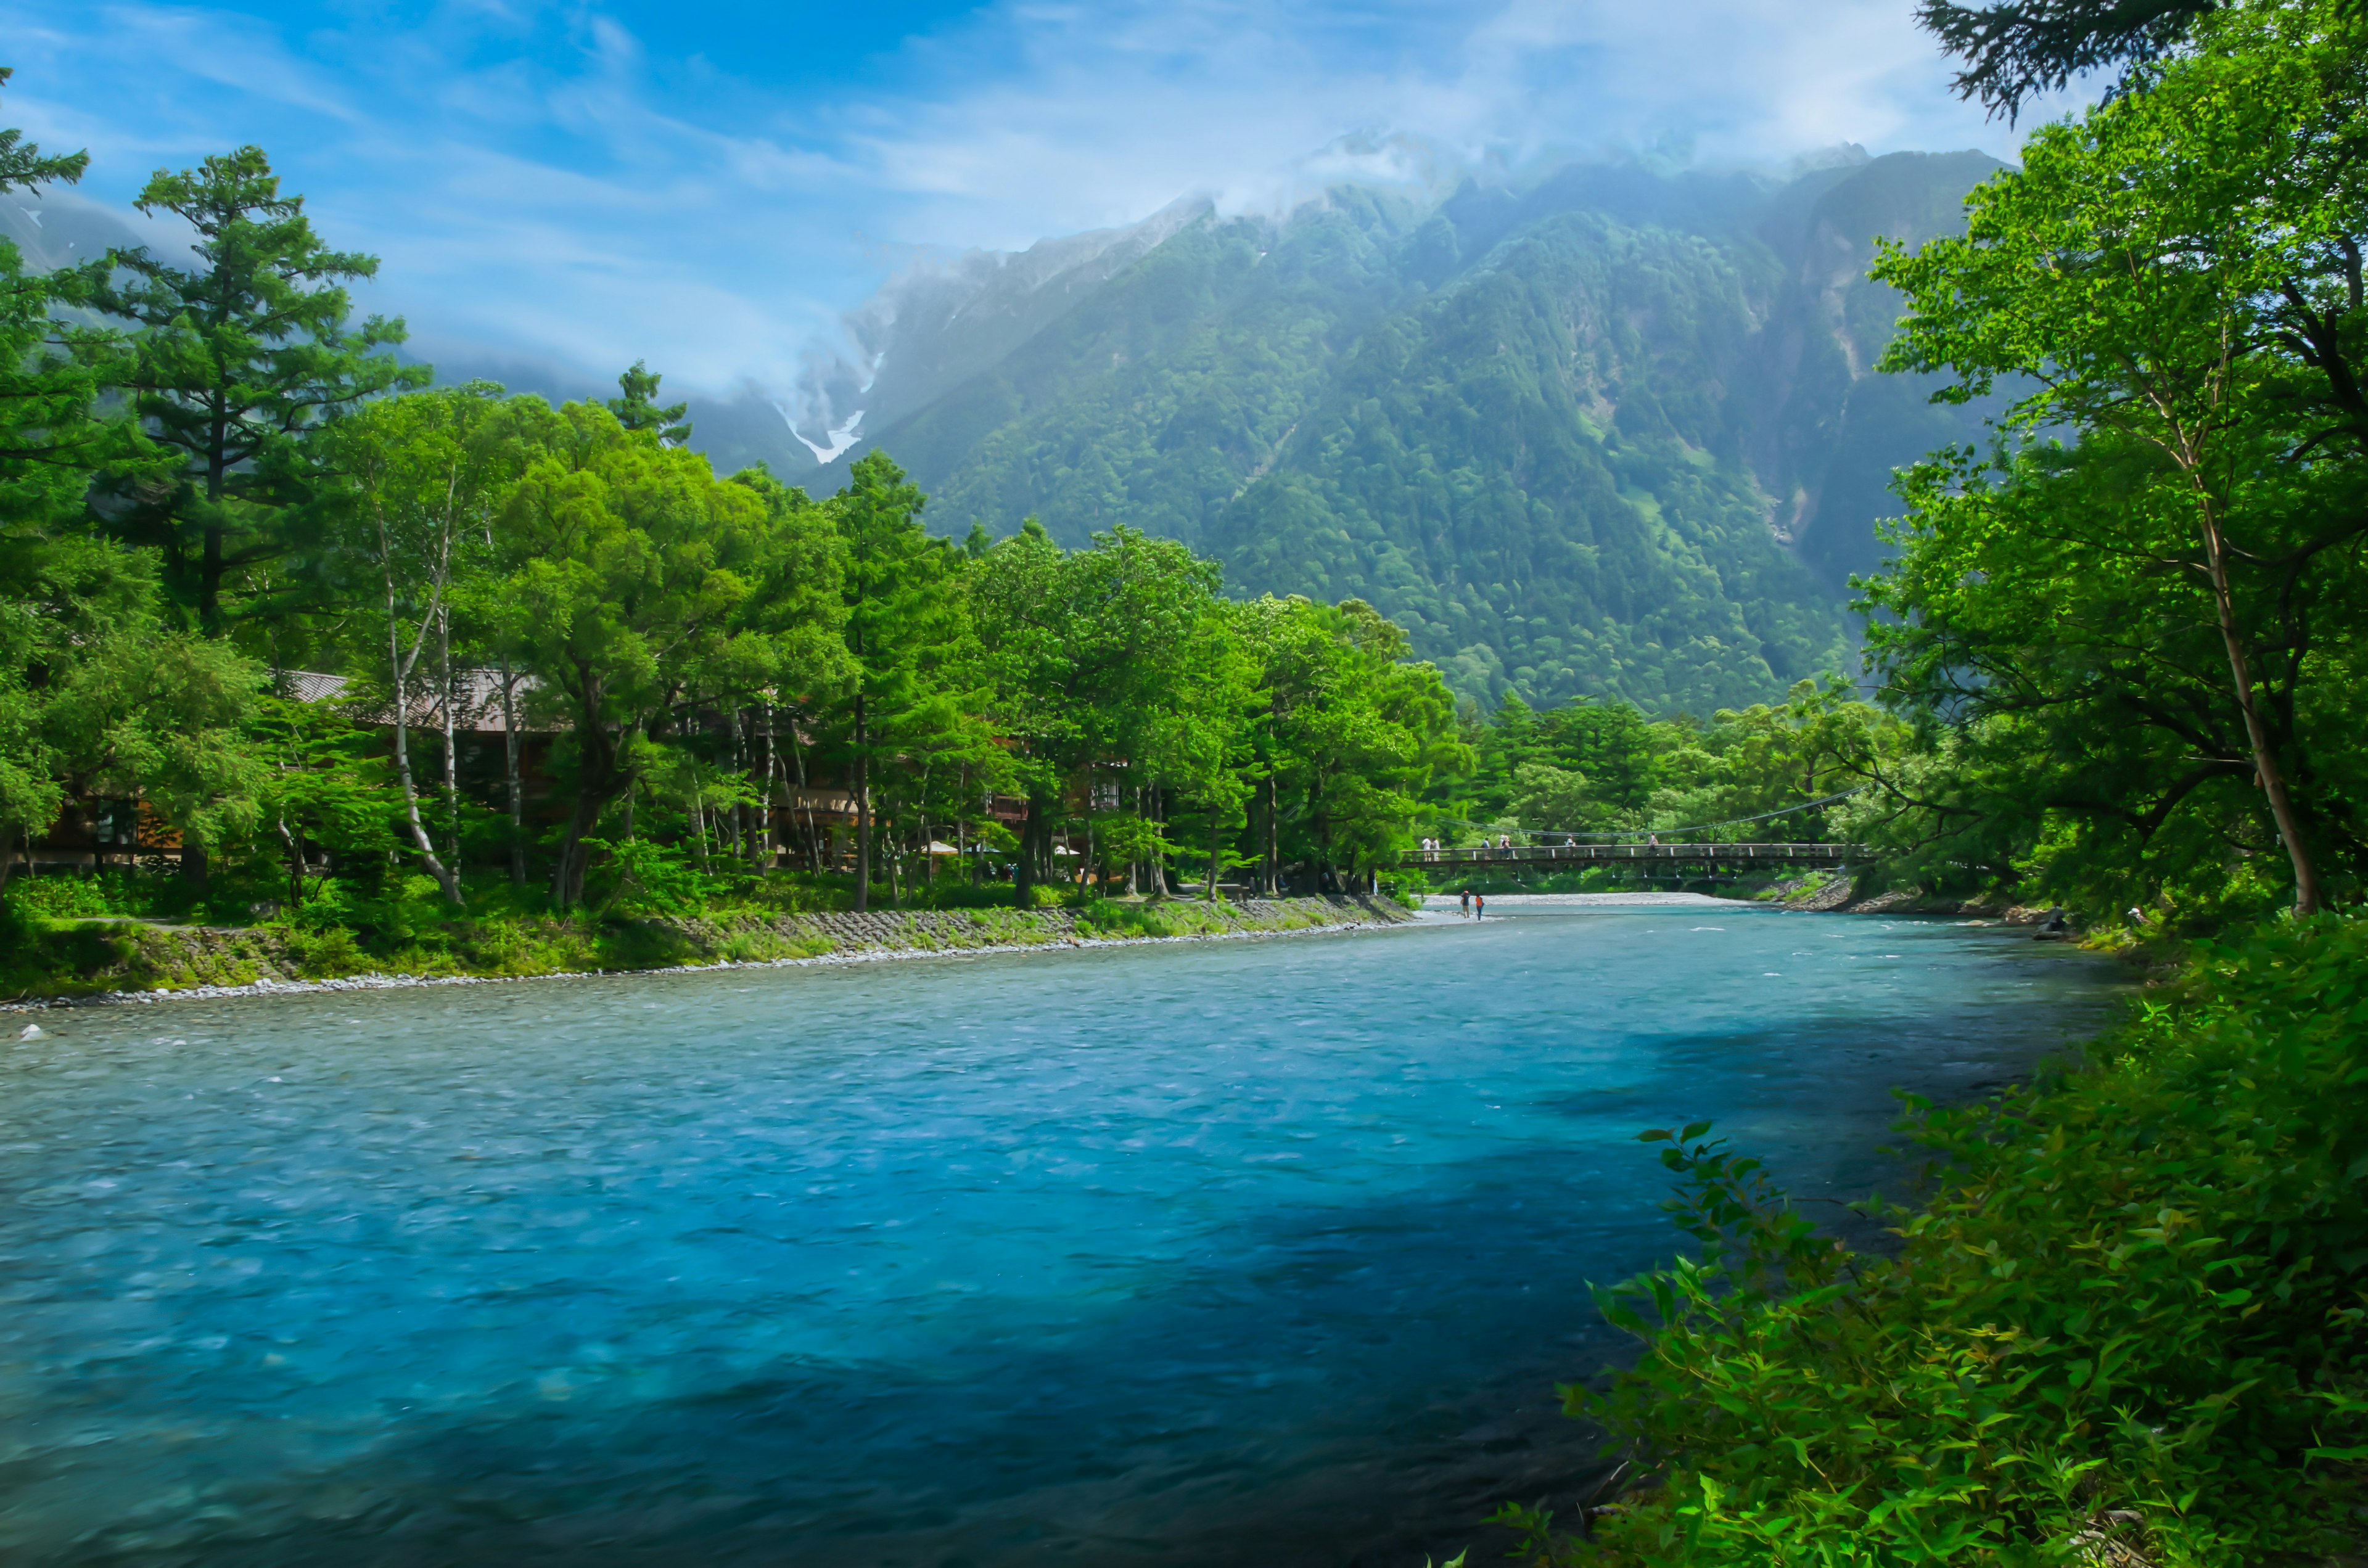
<instances>
[{"instance_id":1,"label":"large bright green leafy tree on right bank with slender leaning trunk","mask_svg":"<svg viewBox=\"0 0 2368 1568\"><path fill-rule=\"evenodd\" d=\"M2190 782L2150 793L2250 777L2304 912L2323 841L2359 836L2328 777L2351 732L2314 722L2314 687L2354 668L2368 535L2361 31L2306 7L2214 17L2193 54L2039 130L1963 239L1875 270L1911 306L1885 365L1954 372L1946 398L2020 379L2006 429L2039 443L1911 481L1904 568L1868 592L1902 699L1965 722L2103 696L2091 720L2179 734ZM2046 452L2055 433L2077 445Z\"/></svg>"}]
</instances>

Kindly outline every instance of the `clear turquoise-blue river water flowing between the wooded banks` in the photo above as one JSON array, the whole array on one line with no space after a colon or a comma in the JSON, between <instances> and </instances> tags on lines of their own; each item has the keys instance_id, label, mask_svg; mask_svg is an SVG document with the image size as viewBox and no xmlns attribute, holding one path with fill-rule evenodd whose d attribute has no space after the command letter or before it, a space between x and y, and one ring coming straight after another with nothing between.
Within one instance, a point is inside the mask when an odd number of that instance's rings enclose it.
<instances>
[{"instance_id":1,"label":"clear turquoise-blue river water flowing between the wooded banks","mask_svg":"<svg viewBox=\"0 0 2368 1568\"><path fill-rule=\"evenodd\" d=\"M0 1561L1414 1568L1594 1473L1641 1127L1857 1199L2110 997L1695 905L40 1014Z\"/></svg>"}]
</instances>

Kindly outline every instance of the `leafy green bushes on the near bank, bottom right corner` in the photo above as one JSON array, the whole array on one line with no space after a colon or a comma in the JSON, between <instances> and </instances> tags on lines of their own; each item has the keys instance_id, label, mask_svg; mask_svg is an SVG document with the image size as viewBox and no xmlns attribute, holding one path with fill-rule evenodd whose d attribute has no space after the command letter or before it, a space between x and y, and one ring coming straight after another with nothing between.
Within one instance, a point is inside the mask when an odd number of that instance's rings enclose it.
<instances>
[{"instance_id":1,"label":"leafy green bushes on the near bank, bottom right corner","mask_svg":"<svg viewBox=\"0 0 2368 1568\"><path fill-rule=\"evenodd\" d=\"M1643 1360L1568 1388L1658 1478L1534 1563L2115 1563L2356 1554L2368 1523L2368 919L2205 947L2086 1071L1961 1111L1902 1251L1662 1142L1700 1241L1598 1291ZM1563 1523L1570 1523L1568 1518Z\"/></svg>"}]
</instances>

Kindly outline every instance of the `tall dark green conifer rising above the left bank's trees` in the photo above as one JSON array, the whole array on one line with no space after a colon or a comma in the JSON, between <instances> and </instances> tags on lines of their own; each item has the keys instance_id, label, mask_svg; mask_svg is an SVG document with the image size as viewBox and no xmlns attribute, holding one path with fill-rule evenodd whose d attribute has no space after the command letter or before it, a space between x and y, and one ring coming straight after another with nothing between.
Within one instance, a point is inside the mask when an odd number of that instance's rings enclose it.
<instances>
[{"instance_id":1,"label":"tall dark green conifer rising above the left bank's trees","mask_svg":"<svg viewBox=\"0 0 2368 1568\"><path fill-rule=\"evenodd\" d=\"M161 550L166 587L223 635L258 609L242 599L253 573L298 547L303 438L429 369L395 360L400 320L350 324L343 284L374 277L377 258L327 249L260 147L156 171L137 206L187 223L197 265L147 249L109 256L130 277L97 301L137 327L128 386L149 436L178 457L168 481L128 486L111 516Z\"/></svg>"}]
</instances>

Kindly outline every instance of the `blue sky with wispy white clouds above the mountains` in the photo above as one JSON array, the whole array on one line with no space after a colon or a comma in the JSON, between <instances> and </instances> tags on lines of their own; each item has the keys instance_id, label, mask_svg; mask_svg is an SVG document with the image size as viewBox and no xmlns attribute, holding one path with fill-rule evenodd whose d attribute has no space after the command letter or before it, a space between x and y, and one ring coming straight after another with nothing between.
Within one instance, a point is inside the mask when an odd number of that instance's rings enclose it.
<instances>
[{"instance_id":1,"label":"blue sky with wispy white clouds above the mountains","mask_svg":"<svg viewBox=\"0 0 2368 1568\"><path fill-rule=\"evenodd\" d=\"M1622 147L1729 163L2013 135L1946 92L1911 0L0 0L5 123L83 192L258 142L384 258L414 346L668 388L786 386L919 258L1186 194ZM1333 149L1326 154L1326 149ZM1385 173L1385 171L1383 171Z\"/></svg>"}]
</instances>

